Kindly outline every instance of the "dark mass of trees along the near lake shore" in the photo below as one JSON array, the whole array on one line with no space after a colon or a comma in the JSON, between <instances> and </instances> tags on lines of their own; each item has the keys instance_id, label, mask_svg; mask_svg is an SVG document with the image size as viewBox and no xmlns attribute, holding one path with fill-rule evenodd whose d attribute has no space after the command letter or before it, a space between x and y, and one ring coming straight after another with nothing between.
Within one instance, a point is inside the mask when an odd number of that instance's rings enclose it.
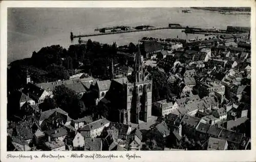
<instances>
[{"instance_id":1,"label":"dark mass of trees along the near lake shore","mask_svg":"<svg viewBox=\"0 0 256 162\"><path fill-rule=\"evenodd\" d=\"M52 45L33 52L31 58L17 60L8 69L8 89L20 89L26 85L27 71L36 83L68 79L74 69L84 69L102 79L109 77L107 67L116 55L116 43L113 45L92 42L70 45L65 49Z\"/></svg>"}]
</instances>

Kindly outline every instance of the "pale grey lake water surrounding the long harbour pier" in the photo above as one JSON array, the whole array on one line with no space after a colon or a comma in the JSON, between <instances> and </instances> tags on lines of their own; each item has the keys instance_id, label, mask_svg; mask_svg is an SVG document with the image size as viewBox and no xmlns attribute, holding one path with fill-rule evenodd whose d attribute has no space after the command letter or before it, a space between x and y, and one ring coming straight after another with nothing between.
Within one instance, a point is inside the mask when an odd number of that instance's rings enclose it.
<instances>
[{"instance_id":1,"label":"pale grey lake water surrounding the long harbour pier","mask_svg":"<svg viewBox=\"0 0 256 162\"><path fill-rule=\"evenodd\" d=\"M225 15L219 12L182 8L16 8L8 9L8 63L31 57L41 47L59 44L68 48L70 32L75 35L93 33L95 28L112 25L137 26L168 23L201 28L226 29L227 25L250 26L249 15ZM136 33L84 37L82 40L125 45L137 43L142 37L193 39L204 35L185 35L181 30L157 30Z\"/></svg>"}]
</instances>

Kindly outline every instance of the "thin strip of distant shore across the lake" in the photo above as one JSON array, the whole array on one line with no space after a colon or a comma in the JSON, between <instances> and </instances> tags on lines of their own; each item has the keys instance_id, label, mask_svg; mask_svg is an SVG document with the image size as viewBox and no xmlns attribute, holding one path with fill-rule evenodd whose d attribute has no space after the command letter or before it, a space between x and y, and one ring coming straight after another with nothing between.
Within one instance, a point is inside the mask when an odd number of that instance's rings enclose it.
<instances>
[{"instance_id":1,"label":"thin strip of distant shore across the lake","mask_svg":"<svg viewBox=\"0 0 256 162\"><path fill-rule=\"evenodd\" d=\"M230 14L241 14L241 15L251 15L251 12L244 9L242 10L237 10L235 8L211 8L211 7L191 7L193 9L197 9L197 10L208 10L208 11L218 11L218 12L224 12L226 14L230 13Z\"/></svg>"}]
</instances>

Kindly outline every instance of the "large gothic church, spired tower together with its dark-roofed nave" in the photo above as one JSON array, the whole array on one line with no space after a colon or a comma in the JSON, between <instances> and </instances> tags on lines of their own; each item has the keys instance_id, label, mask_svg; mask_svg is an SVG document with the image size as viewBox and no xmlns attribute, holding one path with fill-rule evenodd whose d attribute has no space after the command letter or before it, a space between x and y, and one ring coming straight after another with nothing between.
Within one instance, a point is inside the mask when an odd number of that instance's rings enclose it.
<instances>
[{"instance_id":1,"label":"large gothic church, spired tower together with its dark-roofed nave","mask_svg":"<svg viewBox=\"0 0 256 162\"><path fill-rule=\"evenodd\" d=\"M135 82L126 77L112 79L105 99L110 102L111 119L123 124L147 122L152 115L152 79L145 76L140 50L134 64ZM111 120L110 119L110 120Z\"/></svg>"}]
</instances>

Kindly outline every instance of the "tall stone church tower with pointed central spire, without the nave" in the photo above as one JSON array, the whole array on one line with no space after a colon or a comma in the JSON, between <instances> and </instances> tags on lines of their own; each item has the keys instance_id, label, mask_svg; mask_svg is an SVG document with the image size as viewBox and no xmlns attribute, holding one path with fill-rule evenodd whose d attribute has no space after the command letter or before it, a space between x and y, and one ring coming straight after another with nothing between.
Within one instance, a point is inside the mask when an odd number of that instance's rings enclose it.
<instances>
[{"instance_id":1,"label":"tall stone church tower with pointed central spire, without the nave","mask_svg":"<svg viewBox=\"0 0 256 162\"><path fill-rule=\"evenodd\" d=\"M127 83L126 87L127 123L147 122L147 119L151 117L152 79L144 76L145 71L142 64L140 49L138 49L134 60L135 82Z\"/></svg>"}]
</instances>

